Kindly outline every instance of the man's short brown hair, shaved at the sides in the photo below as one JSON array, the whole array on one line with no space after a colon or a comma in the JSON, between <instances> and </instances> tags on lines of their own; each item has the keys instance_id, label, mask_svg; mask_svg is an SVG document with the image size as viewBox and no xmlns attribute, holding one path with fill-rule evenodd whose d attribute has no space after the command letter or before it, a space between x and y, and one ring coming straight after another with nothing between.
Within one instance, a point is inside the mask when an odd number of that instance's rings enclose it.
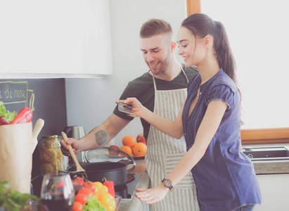
<instances>
[{"instance_id":1,"label":"man's short brown hair, shaved at the sides","mask_svg":"<svg viewBox=\"0 0 289 211\"><path fill-rule=\"evenodd\" d=\"M150 19L143 23L139 35L141 38L153 37L158 34L172 34L172 27L165 20Z\"/></svg>"}]
</instances>

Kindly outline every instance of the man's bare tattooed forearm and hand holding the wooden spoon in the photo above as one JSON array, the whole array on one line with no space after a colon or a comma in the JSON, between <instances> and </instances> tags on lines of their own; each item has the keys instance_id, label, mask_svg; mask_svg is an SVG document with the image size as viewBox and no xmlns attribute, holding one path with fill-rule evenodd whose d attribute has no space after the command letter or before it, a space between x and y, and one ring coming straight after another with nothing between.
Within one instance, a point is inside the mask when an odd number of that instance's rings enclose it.
<instances>
[{"instance_id":1,"label":"man's bare tattooed forearm and hand holding the wooden spoon","mask_svg":"<svg viewBox=\"0 0 289 211\"><path fill-rule=\"evenodd\" d=\"M76 139L68 139L68 144L72 145L75 153L80 151L88 151L105 146L111 139L113 139L124 127L129 124L130 120L124 120L115 114L110 115L105 122L94 128L78 141ZM64 155L70 155L68 146L64 140L60 141L61 150Z\"/></svg>"}]
</instances>

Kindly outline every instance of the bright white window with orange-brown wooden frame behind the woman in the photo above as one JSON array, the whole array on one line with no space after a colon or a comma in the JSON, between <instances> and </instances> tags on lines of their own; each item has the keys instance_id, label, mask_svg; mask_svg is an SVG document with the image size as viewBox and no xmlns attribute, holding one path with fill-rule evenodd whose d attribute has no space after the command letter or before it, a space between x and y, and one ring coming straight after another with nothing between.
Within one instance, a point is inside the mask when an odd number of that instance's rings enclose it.
<instances>
[{"instance_id":1,"label":"bright white window with orange-brown wooden frame behind the woman","mask_svg":"<svg viewBox=\"0 0 289 211\"><path fill-rule=\"evenodd\" d=\"M285 129L282 139L288 142L289 14L285 4L282 0L203 0L200 9L226 27L243 94L243 131L279 133L281 128Z\"/></svg>"}]
</instances>

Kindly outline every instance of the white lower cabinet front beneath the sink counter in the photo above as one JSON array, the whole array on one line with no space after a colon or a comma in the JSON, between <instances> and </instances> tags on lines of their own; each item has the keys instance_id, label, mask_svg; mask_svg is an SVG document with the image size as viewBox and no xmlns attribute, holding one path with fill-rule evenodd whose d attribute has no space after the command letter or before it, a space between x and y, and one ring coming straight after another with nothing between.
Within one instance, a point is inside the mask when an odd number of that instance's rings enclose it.
<instances>
[{"instance_id":1,"label":"white lower cabinet front beneath the sink counter","mask_svg":"<svg viewBox=\"0 0 289 211\"><path fill-rule=\"evenodd\" d=\"M289 174L257 175L262 193L262 204L254 211L289 210Z\"/></svg>"}]
</instances>

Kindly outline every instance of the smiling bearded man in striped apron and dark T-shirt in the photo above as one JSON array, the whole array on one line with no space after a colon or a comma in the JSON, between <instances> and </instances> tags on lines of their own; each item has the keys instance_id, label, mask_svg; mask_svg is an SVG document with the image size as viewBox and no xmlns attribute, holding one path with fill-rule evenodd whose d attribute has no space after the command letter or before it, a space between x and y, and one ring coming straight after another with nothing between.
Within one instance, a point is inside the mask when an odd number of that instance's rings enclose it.
<instances>
[{"instance_id":1,"label":"smiling bearded man in striped apron and dark T-shirt","mask_svg":"<svg viewBox=\"0 0 289 211\"><path fill-rule=\"evenodd\" d=\"M177 62L174 55L176 42L173 41L172 27L164 20L151 19L143 24L140 32L143 59L150 68L127 85L120 99L136 97L154 113L175 120L186 99L186 84L195 75L196 68L186 68ZM75 153L105 146L129 122L132 117L121 113L115 107L113 114L103 124L94 128L89 134L68 143L75 148ZM143 135L148 144L146 153L146 170L150 177L150 186L157 186L174 168L186 152L184 137L174 139L158 131L141 119ZM61 141L62 150L68 155L67 146ZM195 182L191 172L174 187L159 203L150 205L150 210L199 210Z\"/></svg>"}]
</instances>

